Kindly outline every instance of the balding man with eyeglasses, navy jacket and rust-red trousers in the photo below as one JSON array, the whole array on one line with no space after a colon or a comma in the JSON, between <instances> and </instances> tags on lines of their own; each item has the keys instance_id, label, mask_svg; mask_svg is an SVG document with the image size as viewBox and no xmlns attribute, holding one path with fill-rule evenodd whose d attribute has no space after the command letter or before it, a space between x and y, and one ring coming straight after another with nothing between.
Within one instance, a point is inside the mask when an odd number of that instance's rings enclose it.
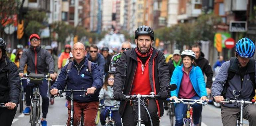
<instances>
[{"instance_id":1,"label":"balding man with eyeglasses, navy jacket and rust-red trousers","mask_svg":"<svg viewBox=\"0 0 256 126\"><path fill-rule=\"evenodd\" d=\"M103 85L103 79L100 74L99 66L91 62L91 70L88 67L89 61L85 57L86 51L82 43L77 42L71 51L74 60L65 65L59 74L58 80L51 87L51 94L58 95L59 90L87 90L86 95L76 93L73 95L74 103L74 126L78 126L81 118L81 112L84 114L84 126L95 126L96 113L99 106L99 92ZM70 69L68 68L70 67ZM69 69L69 72L66 70ZM90 71L90 72L89 72ZM70 93L69 93L70 96ZM70 113L71 101L68 99L68 113ZM70 114L68 114L68 122L70 124Z\"/></svg>"}]
</instances>

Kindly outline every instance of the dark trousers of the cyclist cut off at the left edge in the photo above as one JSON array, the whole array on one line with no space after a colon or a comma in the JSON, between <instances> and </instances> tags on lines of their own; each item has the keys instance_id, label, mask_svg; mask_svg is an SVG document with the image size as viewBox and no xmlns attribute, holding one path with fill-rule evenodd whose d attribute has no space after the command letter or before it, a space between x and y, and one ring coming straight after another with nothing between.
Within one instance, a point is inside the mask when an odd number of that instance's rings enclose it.
<instances>
[{"instance_id":1,"label":"dark trousers of the cyclist cut off at the left edge","mask_svg":"<svg viewBox=\"0 0 256 126\"><path fill-rule=\"evenodd\" d=\"M1 126L11 126L13 118L16 114L17 109L0 108L0 123Z\"/></svg>"}]
</instances>

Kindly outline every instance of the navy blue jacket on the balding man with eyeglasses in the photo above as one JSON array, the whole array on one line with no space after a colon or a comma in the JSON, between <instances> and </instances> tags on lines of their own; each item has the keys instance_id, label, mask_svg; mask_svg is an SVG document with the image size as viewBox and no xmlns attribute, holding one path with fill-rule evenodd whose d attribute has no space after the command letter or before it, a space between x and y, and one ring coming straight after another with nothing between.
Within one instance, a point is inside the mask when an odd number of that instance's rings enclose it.
<instances>
[{"instance_id":1,"label":"navy blue jacket on the balding man with eyeglasses","mask_svg":"<svg viewBox=\"0 0 256 126\"><path fill-rule=\"evenodd\" d=\"M67 65L65 65L64 68L62 68L57 81L52 85L51 89L56 88L58 90L64 90L66 85L67 90L81 90L82 87L86 90L87 88L94 87L96 88L96 91L93 95L83 97L80 96L82 95L82 93L76 92L73 93L73 99L74 101L81 103L98 101L99 92L103 85L103 79L101 76L99 66L92 62L90 73L88 68L87 57L85 57L84 64L80 70L78 70L77 67L74 65L74 62L72 62L71 69L68 72L68 78L65 81ZM67 93L67 95L70 96L70 93Z\"/></svg>"}]
</instances>

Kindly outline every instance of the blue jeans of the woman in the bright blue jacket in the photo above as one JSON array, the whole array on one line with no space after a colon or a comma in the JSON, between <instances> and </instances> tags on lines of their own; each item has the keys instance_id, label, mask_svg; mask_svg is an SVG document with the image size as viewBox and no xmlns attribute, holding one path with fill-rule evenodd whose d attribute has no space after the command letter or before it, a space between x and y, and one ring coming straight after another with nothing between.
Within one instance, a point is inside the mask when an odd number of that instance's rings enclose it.
<instances>
[{"instance_id":1,"label":"blue jeans of the woman in the bright blue jacket","mask_svg":"<svg viewBox=\"0 0 256 126\"><path fill-rule=\"evenodd\" d=\"M198 95L193 96L190 99L200 99ZM199 123L199 118L202 113L202 105L201 104L193 104L193 123L198 124ZM176 103L175 106L175 117L176 117L176 122L175 126L183 126L183 118L186 118L186 112L187 112L187 105L183 103Z\"/></svg>"}]
</instances>

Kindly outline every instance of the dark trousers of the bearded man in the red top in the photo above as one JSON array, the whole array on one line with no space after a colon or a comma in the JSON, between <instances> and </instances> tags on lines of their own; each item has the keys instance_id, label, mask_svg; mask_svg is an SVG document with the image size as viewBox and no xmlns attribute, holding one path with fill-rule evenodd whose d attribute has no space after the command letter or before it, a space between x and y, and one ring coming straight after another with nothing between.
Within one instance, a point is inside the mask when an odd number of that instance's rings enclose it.
<instances>
[{"instance_id":1,"label":"dark trousers of the bearded man in the red top","mask_svg":"<svg viewBox=\"0 0 256 126\"><path fill-rule=\"evenodd\" d=\"M142 109L143 106L141 106ZM157 114L158 109L157 109L157 103L155 99L149 99L149 103L148 103L148 111L149 114L151 116L152 122L153 122L153 126L159 126L159 116ZM143 114L143 113L141 113ZM126 108L124 110L124 114L122 117L122 122L124 126L136 126L137 125L137 121L135 122L134 120L138 120L138 119L134 119L135 116L133 114L133 109L132 106L130 105L129 102L127 102ZM144 123L146 126L151 126L150 123L150 119L148 118L148 122Z\"/></svg>"}]
</instances>

